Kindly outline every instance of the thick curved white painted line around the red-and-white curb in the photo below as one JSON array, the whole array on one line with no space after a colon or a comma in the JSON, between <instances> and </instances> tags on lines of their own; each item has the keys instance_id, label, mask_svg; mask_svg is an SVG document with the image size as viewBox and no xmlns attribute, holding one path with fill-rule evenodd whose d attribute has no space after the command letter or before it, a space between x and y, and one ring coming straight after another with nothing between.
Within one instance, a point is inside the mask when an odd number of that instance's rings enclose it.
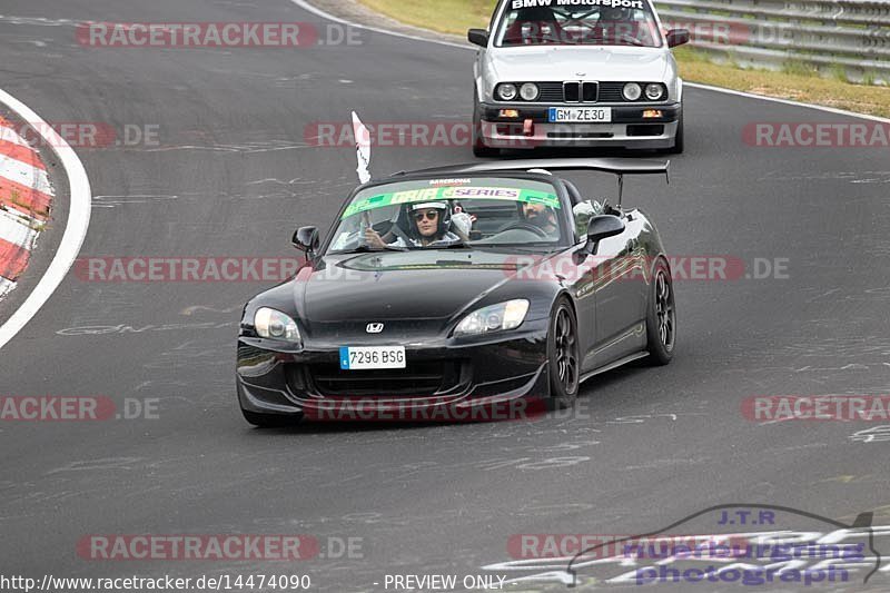
<instances>
[{"instance_id":1,"label":"thick curved white painted line around the red-and-white curb","mask_svg":"<svg viewBox=\"0 0 890 593\"><path fill-rule=\"evenodd\" d=\"M2 348L34 315L37 315L40 307L49 300L49 297L56 291L56 288L58 288L65 279L71 265L75 263L75 258L77 258L77 254L80 251L80 246L83 245L83 239L87 236L87 229L90 226L91 196L90 181L87 178L83 164L80 162L77 154L68 142L27 105L4 90L0 90L0 102L6 103L7 107L16 111L24 121L39 125L39 132L43 140L46 140L47 146L52 148L53 152L56 152L61 161L62 169L65 169L68 176L68 187L70 191L68 224L65 227L62 240L59 243L59 249L56 251L52 261L33 291L28 295L28 298L24 299L24 303L21 304L18 310L0 326L0 348Z\"/></svg>"}]
</instances>

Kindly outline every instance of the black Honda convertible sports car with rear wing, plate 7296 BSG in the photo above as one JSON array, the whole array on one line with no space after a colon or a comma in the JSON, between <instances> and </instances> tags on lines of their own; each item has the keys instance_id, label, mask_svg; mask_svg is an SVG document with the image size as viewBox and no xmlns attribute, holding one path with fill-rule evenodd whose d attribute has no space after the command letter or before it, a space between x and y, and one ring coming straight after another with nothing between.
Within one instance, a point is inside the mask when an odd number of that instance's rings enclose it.
<instances>
[{"instance_id":1,"label":"black Honda convertible sports car with rear wing, plate 7296 BSG","mask_svg":"<svg viewBox=\"0 0 890 593\"><path fill-rule=\"evenodd\" d=\"M616 206L552 172L568 169L617 175ZM669 363L671 269L655 227L620 195L624 175L666 172L656 161L538 159L360 185L324 240L315 227L295 233L306 253L297 275L244 309L245 418L279 425L356 405L363 419L439 408L449 419L527 398L565 407L597 373L644 356Z\"/></svg>"}]
</instances>

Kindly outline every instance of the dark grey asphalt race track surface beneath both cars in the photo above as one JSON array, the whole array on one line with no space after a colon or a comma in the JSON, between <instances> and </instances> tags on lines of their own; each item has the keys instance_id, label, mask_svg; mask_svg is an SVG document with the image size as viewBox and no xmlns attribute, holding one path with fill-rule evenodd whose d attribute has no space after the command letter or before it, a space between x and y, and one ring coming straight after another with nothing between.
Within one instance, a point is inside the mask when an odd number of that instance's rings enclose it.
<instances>
[{"instance_id":1,"label":"dark grey asphalt race track surface beneath both cars","mask_svg":"<svg viewBox=\"0 0 890 593\"><path fill-rule=\"evenodd\" d=\"M353 109L366 122L471 116L473 52L458 48L367 31L360 47L298 49L76 40L90 20L322 22L287 0L6 0L0 12L0 87L48 121L159 132L156 146L76 147L93 192L82 257L290 257L294 228L327 228L356 184L354 150L308 146L307 125ZM273 283L91 283L72 270L0 352L0 395L148 401L157 417L0 423L3 574L308 574L313 590L380 591L387 574L527 574L483 569L513 560L516 534L649 533L719 504L846 523L873 511L890 524L889 443L852 438L890 422L741 413L755 395L890 393L887 149L749 146L751 122L856 120L702 89L685 102L671 184L629 179L625 205L678 256L726 255L752 274L758 258L778 260L784 273L678 279L673 364L591 380L574 414L254 429L235 401L235 335L243 304ZM467 146L384 147L372 168L467 160ZM578 181L614 195L606 176ZM696 528L681 533L708 533ZM326 557L101 561L77 547L90 534L291 533ZM360 553L329 550L349 537ZM890 587L884 574L873 590ZM834 590L861 590L862 575ZM544 586L564 590L531 589Z\"/></svg>"}]
</instances>

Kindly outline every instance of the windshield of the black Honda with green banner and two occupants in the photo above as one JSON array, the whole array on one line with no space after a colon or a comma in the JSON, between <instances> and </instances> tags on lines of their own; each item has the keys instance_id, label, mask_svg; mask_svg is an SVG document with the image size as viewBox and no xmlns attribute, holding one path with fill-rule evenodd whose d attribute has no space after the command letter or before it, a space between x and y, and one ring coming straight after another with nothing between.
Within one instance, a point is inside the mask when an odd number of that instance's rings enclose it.
<instances>
[{"instance_id":1,"label":"windshield of the black Honda with green banner and two occupants","mask_svg":"<svg viewBox=\"0 0 890 593\"><path fill-rule=\"evenodd\" d=\"M570 235L556 188L512 177L413 179L358 191L328 253L520 247L552 249Z\"/></svg>"}]
</instances>

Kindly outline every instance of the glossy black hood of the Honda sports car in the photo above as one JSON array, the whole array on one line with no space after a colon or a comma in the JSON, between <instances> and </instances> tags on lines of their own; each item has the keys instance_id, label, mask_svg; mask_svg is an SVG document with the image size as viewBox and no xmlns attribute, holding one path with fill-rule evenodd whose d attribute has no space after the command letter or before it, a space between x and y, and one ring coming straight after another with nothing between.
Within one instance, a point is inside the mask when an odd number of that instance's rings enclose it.
<instances>
[{"instance_id":1,"label":"glossy black hood of the Honda sports car","mask_svg":"<svg viewBox=\"0 0 890 593\"><path fill-rule=\"evenodd\" d=\"M526 319L538 319L563 289L534 278L533 268L550 257L492 249L329 255L257 295L246 315L264 306L283 310L316 345L441 337L469 310L514 298L528 299ZM384 324L383 335L368 333L368 324Z\"/></svg>"}]
</instances>

